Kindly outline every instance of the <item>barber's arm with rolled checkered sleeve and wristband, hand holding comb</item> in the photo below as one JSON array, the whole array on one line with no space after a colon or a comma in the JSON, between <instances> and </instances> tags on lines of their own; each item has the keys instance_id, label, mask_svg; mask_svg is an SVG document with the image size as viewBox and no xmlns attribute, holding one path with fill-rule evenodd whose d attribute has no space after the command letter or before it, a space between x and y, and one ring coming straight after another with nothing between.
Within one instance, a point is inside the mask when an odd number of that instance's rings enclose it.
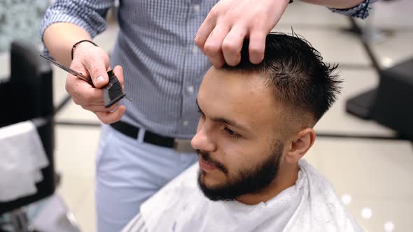
<instances>
[{"instance_id":1,"label":"barber's arm with rolled checkered sleeve and wristband, hand holding comb","mask_svg":"<svg viewBox=\"0 0 413 232\"><path fill-rule=\"evenodd\" d=\"M90 42L94 36L106 29L106 12L114 0L59 0L48 8L41 27L41 36L46 54L72 69L90 76L94 87L84 80L69 74L66 91L73 101L90 110L104 123L116 122L125 113L125 106L114 104L104 107L102 87L109 82L109 55ZM73 45L76 45L73 48ZM73 57L72 57L73 56ZM73 58L73 60L72 60ZM113 73L123 85L122 67L113 67ZM112 112L113 111L113 112Z\"/></svg>"}]
</instances>

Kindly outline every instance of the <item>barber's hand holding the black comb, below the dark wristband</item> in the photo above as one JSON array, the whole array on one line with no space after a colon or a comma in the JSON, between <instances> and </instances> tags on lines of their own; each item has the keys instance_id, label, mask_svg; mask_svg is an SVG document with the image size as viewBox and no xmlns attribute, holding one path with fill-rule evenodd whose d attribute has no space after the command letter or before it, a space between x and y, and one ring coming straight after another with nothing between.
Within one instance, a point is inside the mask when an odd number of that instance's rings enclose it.
<instances>
[{"instance_id":1,"label":"barber's hand holding the black comb, below the dark wristband","mask_svg":"<svg viewBox=\"0 0 413 232\"><path fill-rule=\"evenodd\" d=\"M106 52L91 43L83 42L76 46L73 53L71 66L75 71L92 78L92 87L89 83L69 74L66 79L66 91L71 95L73 101L85 110L90 110L104 124L117 122L125 113L125 106L119 106L119 101L110 108L104 107L103 90L101 89L109 82L106 71L109 71L109 56ZM121 66L113 68L113 73L123 87L123 69ZM112 112L113 111L113 112Z\"/></svg>"}]
</instances>

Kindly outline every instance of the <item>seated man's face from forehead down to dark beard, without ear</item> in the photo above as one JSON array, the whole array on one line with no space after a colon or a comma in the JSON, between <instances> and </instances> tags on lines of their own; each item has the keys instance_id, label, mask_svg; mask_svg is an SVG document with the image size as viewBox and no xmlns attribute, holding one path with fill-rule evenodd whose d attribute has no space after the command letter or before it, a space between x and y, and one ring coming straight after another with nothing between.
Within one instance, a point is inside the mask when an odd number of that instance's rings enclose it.
<instances>
[{"instance_id":1,"label":"seated man's face from forehead down to dark beard, without ear","mask_svg":"<svg viewBox=\"0 0 413 232\"><path fill-rule=\"evenodd\" d=\"M198 184L211 200L258 193L276 177L283 110L264 80L214 67L202 80L192 145L200 157Z\"/></svg>"}]
</instances>

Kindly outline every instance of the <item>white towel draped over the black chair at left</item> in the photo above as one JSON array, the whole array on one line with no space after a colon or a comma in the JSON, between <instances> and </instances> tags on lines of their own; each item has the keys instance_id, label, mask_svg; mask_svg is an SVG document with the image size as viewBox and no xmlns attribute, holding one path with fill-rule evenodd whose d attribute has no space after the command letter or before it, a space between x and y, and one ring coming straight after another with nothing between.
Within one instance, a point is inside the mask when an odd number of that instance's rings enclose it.
<instances>
[{"instance_id":1,"label":"white towel draped over the black chair at left","mask_svg":"<svg viewBox=\"0 0 413 232\"><path fill-rule=\"evenodd\" d=\"M32 122L0 128L0 159L0 202L36 193L49 163Z\"/></svg>"}]
</instances>

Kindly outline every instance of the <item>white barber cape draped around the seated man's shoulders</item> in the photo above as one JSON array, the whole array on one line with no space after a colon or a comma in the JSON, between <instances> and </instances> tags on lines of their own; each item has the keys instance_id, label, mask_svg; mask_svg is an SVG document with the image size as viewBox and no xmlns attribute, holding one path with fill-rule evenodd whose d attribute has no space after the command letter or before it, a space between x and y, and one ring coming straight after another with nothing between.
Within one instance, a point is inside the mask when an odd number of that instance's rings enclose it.
<instances>
[{"instance_id":1,"label":"white barber cape draped around the seated man's shoulders","mask_svg":"<svg viewBox=\"0 0 413 232\"><path fill-rule=\"evenodd\" d=\"M300 160L297 182L267 202L210 201L197 186L198 164L141 205L123 232L362 231L328 180Z\"/></svg>"}]
</instances>

